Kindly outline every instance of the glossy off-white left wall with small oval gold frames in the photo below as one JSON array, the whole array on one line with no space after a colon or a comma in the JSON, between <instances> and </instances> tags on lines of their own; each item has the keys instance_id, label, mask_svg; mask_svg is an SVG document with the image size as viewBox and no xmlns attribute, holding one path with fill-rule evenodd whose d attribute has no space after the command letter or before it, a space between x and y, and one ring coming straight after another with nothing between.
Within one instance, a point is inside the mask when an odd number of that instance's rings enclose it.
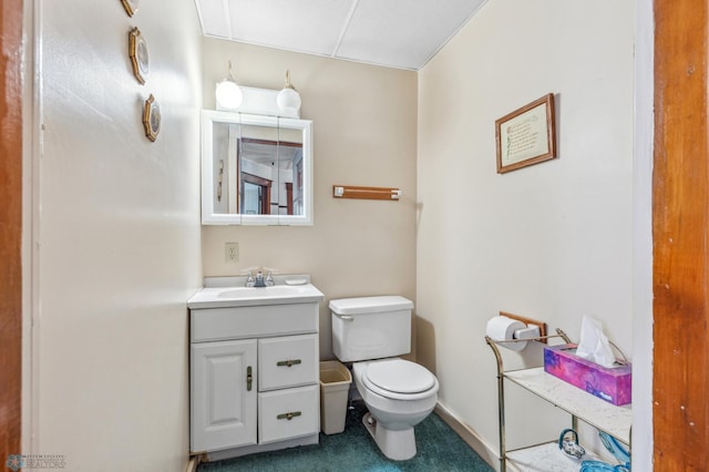
<instances>
[{"instance_id":1,"label":"glossy off-white left wall with small oval gold frames","mask_svg":"<svg viewBox=\"0 0 709 472\"><path fill-rule=\"evenodd\" d=\"M184 470L185 301L202 281L195 8L142 1L129 18L115 0L35 4L41 155L23 453L61 454L72 471ZM132 27L148 44L145 85L127 55ZM155 143L142 124L150 93L162 109Z\"/></svg>"}]
</instances>

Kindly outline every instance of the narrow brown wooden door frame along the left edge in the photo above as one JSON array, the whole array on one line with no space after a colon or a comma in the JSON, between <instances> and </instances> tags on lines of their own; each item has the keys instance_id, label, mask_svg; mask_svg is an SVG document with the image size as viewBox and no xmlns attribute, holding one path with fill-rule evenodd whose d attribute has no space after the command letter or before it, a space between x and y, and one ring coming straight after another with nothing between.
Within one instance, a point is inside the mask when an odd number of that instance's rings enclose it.
<instances>
[{"instance_id":1,"label":"narrow brown wooden door frame along the left edge","mask_svg":"<svg viewBox=\"0 0 709 472\"><path fill-rule=\"evenodd\" d=\"M22 432L22 63L21 1L2 2L0 125L0 461L20 454Z\"/></svg>"}]
</instances>

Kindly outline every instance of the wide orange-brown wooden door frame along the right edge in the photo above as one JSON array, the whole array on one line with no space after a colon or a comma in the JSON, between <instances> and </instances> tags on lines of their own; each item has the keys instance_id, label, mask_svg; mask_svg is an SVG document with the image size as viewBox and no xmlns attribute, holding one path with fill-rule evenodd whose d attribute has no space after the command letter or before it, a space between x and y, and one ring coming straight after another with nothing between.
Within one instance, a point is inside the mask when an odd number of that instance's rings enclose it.
<instances>
[{"instance_id":1,"label":"wide orange-brown wooden door frame along the right edge","mask_svg":"<svg viewBox=\"0 0 709 472\"><path fill-rule=\"evenodd\" d=\"M654 470L709 470L707 2L655 0Z\"/></svg>"}]
</instances>

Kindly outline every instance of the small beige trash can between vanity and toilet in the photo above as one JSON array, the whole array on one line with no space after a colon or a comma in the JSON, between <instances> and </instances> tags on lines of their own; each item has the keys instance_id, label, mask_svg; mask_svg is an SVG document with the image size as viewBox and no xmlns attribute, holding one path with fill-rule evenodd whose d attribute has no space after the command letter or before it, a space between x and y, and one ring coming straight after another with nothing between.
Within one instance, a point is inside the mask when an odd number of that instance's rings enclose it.
<instances>
[{"instance_id":1,"label":"small beige trash can between vanity and toilet","mask_svg":"<svg viewBox=\"0 0 709 472\"><path fill-rule=\"evenodd\" d=\"M342 362L320 362L320 429L323 433L336 434L345 431L350 383L352 374Z\"/></svg>"}]
</instances>

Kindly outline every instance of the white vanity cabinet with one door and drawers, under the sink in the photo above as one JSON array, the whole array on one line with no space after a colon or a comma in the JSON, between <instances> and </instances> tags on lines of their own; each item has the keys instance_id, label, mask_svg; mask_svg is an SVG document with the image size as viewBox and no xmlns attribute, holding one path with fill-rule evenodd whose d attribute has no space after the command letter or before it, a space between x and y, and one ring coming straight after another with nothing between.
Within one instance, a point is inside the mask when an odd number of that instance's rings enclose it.
<instances>
[{"instance_id":1,"label":"white vanity cabinet with one door and drawers, under the sink","mask_svg":"<svg viewBox=\"0 0 709 472\"><path fill-rule=\"evenodd\" d=\"M219 460L318 442L321 298L188 302L193 454Z\"/></svg>"}]
</instances>

